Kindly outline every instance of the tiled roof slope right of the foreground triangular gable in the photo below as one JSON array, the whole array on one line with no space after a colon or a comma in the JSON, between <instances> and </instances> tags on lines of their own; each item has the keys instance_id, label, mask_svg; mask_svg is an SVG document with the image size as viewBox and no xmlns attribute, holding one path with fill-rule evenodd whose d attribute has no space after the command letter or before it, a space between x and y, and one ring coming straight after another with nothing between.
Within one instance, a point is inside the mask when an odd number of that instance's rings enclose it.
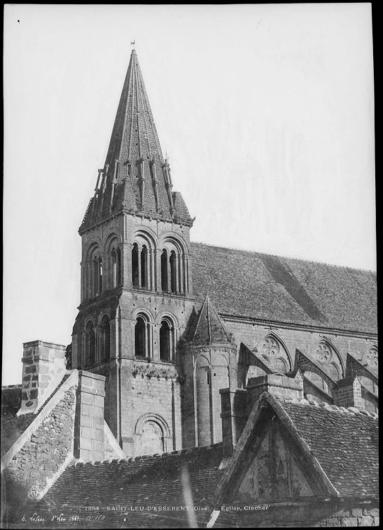
<instances>
[{"instance_id":1,"label":"tiled roof slope right of the foreground triangular gable","mask_svg":"<svg viewBox=\"0 0 383 530\"><path fill-rule=\"evenodd\" d=\"M356 408L279 400L341 496L378 495L378 422Z\"/></svg>"}]
</instances>

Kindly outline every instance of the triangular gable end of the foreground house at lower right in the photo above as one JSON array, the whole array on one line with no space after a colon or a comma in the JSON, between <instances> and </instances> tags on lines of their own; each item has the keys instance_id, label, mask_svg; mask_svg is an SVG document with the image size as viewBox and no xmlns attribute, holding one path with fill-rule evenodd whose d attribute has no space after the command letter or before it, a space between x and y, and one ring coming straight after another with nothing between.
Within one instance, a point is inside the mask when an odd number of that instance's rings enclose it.
<instances>
[{"instance_id":1,"label":"triangular gable end of the foreground house at lower right","mask_svg":"<svg viewBox=\"0 0 383 530\"><path fill-rule=\"evenodd\" d=\"M270 440L272 440L271 443ZM280 455L279 458L276 455L277 452ZM264 459L263 463L261 459ZM266 461L269 461L269 469L265 466ZM276 464L277 461L278 464ZM287 461L289 464L283 464ZM282 462L283 467L279 466L278 469L279 462ZM290 474L287 479L288 465ZM246 482L253 481L254 484L254 473L258 473L259 476L259 469L264 470L265 484L269 480L269 493L263 493L266 497L269 495L269 501L276 500L279 495L282 495L283 487L285 491L288 491L288 497L310 494L319 497L329 495L338 497L339 495L324 473L322 466L310 452L310 447L298 434L293 421L283 410L281 404L267 392L259 397L240 440L235 446L235 451L218 487L215 506L227 505L235 502L238 495L244 496ZM251 470L253 478L251 478ZM269 479L267 479L268 476ZM286 478L285 485L281 486L280 490L276 487L278 476L279 480ZM302 490L297 488L296 482L299 482L297 478L303 478ZM259 485L257 487L259 488ZM254 484L253 491L256 490ZM249 495L252 495L251 490L249 490Z\"/></svg>"}]
</instances>

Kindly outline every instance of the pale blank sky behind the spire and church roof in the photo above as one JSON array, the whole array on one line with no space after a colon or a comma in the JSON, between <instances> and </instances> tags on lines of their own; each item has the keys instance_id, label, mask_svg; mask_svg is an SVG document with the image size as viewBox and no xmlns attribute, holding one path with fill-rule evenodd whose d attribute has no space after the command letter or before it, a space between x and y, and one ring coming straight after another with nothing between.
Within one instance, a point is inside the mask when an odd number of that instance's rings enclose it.
<instances>
[{"instance_id":1,"label":"pale blank sky behind the spire and church roof","mask_svg":"<svg viewBox=\"0 0 383 530\"><path fill-rule=\"evenodd\" d=\"M3 384L71 342L134 40L193 241L376 270L370 4L7 4Z\"/></svg>"}]
</instances>

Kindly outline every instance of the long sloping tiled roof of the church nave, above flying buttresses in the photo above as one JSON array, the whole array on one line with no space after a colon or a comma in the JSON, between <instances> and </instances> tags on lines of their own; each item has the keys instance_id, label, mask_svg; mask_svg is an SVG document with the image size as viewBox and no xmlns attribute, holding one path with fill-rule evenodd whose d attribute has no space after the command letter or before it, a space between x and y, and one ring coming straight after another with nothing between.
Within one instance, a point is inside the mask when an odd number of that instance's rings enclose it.
<instances>
[{"instance_id":1,"label":"long sloping tiled roof of the church nave, above flying buttresses","mask_svg":"<svg viewBox=\"0 0 383 530\"><path fill-rule=\"evenodd\" d=\"M192 243L194 295L220 314L377 333L376 274Z\"/></svg>"}]
</instances>

